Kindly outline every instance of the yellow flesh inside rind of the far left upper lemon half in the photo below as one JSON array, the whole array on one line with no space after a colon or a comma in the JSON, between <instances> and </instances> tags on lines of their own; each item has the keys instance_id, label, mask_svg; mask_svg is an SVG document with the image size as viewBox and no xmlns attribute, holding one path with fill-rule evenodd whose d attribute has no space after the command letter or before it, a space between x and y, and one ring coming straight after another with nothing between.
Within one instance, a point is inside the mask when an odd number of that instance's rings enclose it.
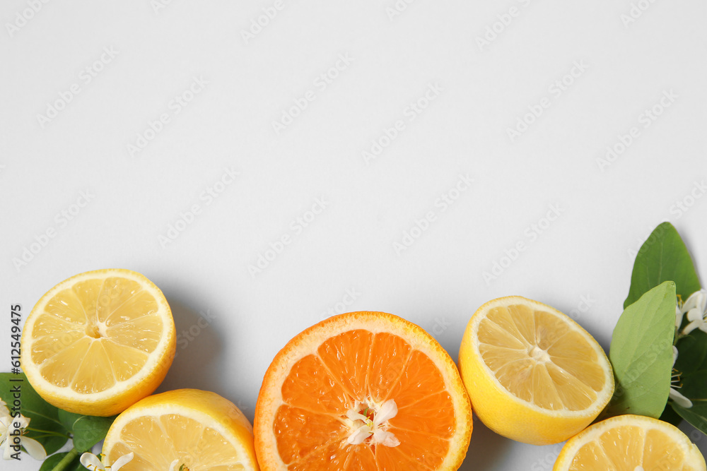
<instances>
[{"instance_id":1,"label":"yellow flesh inside rind of the far left upper lemon half","mask_svg":"<svg viewBox=\"0 0 707 471\"><path fill-rule=\"evenodd\" d=\"M78 282L49 299L37 318L33 362L55 386L99 393L144 366L162 335L158 310L154 297L133 280Z\"/></svg>"}]
</instances>

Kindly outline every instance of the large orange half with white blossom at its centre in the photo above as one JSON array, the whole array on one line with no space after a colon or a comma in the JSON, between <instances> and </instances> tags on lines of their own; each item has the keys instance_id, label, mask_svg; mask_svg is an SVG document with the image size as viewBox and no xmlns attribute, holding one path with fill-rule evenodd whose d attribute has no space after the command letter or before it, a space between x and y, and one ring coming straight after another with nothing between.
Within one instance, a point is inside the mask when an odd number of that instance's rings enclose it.
<instances>
[{"instance_id":1,"label":"large orange half with white blossom at its centre","mask_svg":"<svg viewBox=\"0 0 707 471\"><path fill-rule=\"evenodd\" d=\"M255 410L265 471L456 470L472 434L447 352L381 312L328 318L267 369Z\"/></svg>"}]
</instances>

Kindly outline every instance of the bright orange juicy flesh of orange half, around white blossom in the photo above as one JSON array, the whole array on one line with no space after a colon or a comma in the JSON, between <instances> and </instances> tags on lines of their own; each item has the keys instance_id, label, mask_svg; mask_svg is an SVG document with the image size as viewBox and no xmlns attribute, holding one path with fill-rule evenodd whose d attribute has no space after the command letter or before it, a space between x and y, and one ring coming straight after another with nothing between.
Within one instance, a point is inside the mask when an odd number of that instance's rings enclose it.
<instances>
[{"instance_id":1,"label":"bright orange juicy flesh of orange half, around white blossom","mask_svg":"<svg viewBox=\"0 0 707 471\"><path fill-rule=\"evenodd\" d=\"M273 431L291 471L436 469L455 433L452 398L438 367L390 333L334 335L293 365L281 393ZM398 408L387 431L399 446L370 439L349 444L346 412L386 400Z\"/></svg>"}]
</instances>

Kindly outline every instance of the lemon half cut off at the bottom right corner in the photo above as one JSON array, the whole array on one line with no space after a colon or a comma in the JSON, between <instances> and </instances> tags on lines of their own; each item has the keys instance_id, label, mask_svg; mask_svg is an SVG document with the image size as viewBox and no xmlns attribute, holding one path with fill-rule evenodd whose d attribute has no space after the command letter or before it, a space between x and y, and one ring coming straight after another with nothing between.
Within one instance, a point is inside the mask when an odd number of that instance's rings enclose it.
<instances>
[{"instance_id":1,"label":"lemon half cut off at the bottom right corner","mask_svg":"<svg viewBox=\"0 0 707 471\"><path fill-rule=\"evenodd\" d=\"M565 443L554 471L705 471L697 446L677 427L642 415L593 424Z\"/></svg>"}]
</instances>

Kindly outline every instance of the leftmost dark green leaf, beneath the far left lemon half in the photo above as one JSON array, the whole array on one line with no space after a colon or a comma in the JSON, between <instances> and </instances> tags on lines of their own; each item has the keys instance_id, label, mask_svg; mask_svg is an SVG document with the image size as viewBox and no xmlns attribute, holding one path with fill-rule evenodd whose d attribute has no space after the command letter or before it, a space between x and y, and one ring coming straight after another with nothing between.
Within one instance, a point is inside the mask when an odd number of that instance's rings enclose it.
<instances>
[{"instance_id":1,"label":"leftmost dark green leaf, beneath the far left lemon half","mask_svg":"<svg viewBox=\"0 0 707 471\"><path fill-rule=\"evenodd\" d=\"M25 374L0 373L0 398L8 407L13 405L13 394L20 388L20 413L30 419L27 436L37 440L51 455L64 446L69 439L69 432L59 422L59 409L47 403L34 390Z\"/></svg>"}]
</instances>

